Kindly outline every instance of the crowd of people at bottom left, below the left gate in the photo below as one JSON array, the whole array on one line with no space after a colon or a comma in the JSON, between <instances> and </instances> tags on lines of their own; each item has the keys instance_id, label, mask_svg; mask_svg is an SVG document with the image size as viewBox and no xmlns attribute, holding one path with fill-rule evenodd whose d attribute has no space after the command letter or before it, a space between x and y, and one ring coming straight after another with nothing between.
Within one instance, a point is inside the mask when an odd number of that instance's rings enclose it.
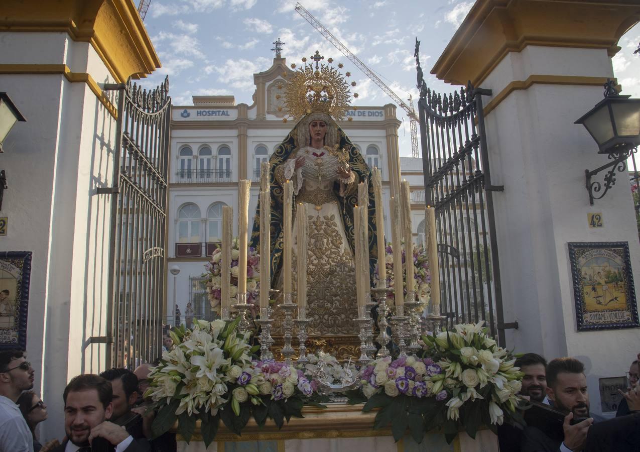
<instances>
[{"instance_id":1,"label":"crowd of people at bottom left, below the left gate","mask_svg":"<svg viewBox=\"0 0 640 452\"><path fill-rule=\"evenodd\" d=\"M62 397L65 432L40 444L36 426L47 405L32 391L34 369L22 350L0 351L0 452L175 451L175 435L154 438L143 394L150 364L71 379Z\"/></svg>"}]
</instances>

